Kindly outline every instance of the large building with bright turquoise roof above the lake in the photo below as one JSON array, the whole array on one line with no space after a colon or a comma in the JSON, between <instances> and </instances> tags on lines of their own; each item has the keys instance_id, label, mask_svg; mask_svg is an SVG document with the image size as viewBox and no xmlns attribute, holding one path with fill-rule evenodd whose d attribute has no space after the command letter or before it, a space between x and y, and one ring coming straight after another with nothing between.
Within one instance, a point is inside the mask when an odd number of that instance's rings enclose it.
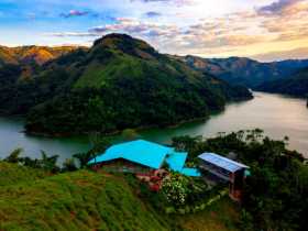
<instances>
[{"instance_id":1,"label":"large building with bright turquoise roof above the lake","mask_svg":"<svg viewBox=\"0 0 308 231\"><path fill-rule=\"evenodd\" d=\"M185 167L187 153L157 143L136 140L116 144L92 158L88 165L94 169L146 174L161 168L169 168L186 176L200 176L196 168Z\"/></svg>"}]
</instances>

